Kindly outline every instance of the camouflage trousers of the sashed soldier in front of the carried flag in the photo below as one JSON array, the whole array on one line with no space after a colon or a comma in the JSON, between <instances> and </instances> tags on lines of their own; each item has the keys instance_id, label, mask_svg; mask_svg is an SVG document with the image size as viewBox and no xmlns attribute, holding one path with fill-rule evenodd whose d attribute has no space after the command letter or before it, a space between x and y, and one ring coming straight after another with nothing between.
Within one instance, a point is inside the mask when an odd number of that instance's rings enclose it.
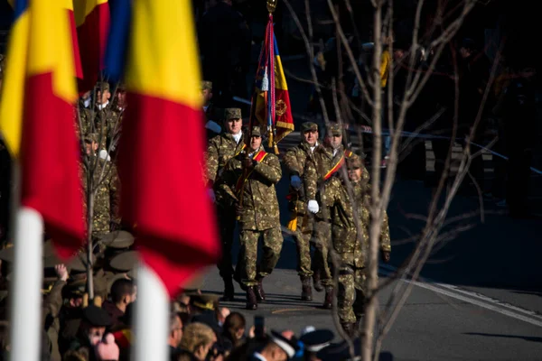
<instances>
[{"instance_id":1,"label":"camouflage trousers of the sashed soldier in front of the carried flag","mask_svg":"<svg viewBox=\"0 0 542 361\"><path fill-rule=\"evenodd\" d=\"M262 255L260 264L257 265L257 242L260 236L264 241L264 255ZM283 241L280 227L269 228L265 231L241 230L239 235L241 247L237 266L243 284L255 286L258 280L273 272L280 257Z\"/></svg>"}]
</instances>

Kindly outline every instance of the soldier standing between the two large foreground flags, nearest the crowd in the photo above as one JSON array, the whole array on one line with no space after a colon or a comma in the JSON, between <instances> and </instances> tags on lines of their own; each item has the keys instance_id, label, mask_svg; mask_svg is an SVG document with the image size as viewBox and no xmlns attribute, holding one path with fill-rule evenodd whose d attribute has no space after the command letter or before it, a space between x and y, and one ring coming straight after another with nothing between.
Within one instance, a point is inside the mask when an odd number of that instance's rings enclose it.
<instances>
[{"instance_id":1,"label":"soldier standing between the two large foreground flags, nearest the crowd","mask_svg":"<svg viewBox=\"0 0 542 361\"><path fill-rule=\"evenodd\" d=\"M87 200L89 184L92 189L98 188L94 196L94 216L92 222L92 236L98 239L111 230L120 226L118 217L118 176L117 167L96 156L98 139L96 134L85 137L86 161L82 164L82 183L84 199ZM86 214L86 213L85 213Z\"/></svg>"}]
</instances>

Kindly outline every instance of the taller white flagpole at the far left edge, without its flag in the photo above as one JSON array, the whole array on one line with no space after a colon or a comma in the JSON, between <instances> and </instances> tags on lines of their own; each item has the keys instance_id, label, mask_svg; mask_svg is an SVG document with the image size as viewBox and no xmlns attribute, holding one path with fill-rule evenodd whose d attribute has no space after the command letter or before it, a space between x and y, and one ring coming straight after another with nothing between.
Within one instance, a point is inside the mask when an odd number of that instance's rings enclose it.
<instances>
[{"instance_id":1,"label":"taller white flagpole at the far left edge, without its flag","mask_svg":"<svg viewBox=\"0 0 542 361\"><path fill-rule=\"evenodd\" d=\"M10 284L10 360L38 361L42 345L43 218L33 208L20 207L21 168L12 163L14 215L14 278Z\"/></svg>"}]
</instances>

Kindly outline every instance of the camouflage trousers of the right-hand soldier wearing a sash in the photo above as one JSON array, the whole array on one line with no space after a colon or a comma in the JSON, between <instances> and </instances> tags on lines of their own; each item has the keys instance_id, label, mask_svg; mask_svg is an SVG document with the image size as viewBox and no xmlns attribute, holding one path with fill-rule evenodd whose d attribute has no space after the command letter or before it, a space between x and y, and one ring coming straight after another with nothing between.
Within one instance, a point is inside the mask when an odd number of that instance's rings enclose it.
<instances>
[{"instance_id":1,"label":"camouflage trousers of the right-hand soldier wearing a sash","mask_svg":"<svg viewBox=\"0 0 542 361\"><path fill-rule=\"evenodd\" d=\"M314 255L313 255L313 276L320 274L322 286L333 285L332 270L328 260L330 243L332 241L332 225L329 221L321 219L314 220Z\"/></svg>"}]
</instances>

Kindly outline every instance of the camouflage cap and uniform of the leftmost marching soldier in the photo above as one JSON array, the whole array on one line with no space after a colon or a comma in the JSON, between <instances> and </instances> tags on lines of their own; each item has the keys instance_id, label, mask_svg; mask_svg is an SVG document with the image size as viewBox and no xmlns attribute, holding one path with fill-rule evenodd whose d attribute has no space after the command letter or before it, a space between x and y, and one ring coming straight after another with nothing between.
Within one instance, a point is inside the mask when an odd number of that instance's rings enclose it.
<instances>
[{"instance_id":1,"label":"camouflage cap and uniform of the leftmost marching soldier","mask_svg":"<svg viewBox=\"0 0 542 361\"><path fill-rule=\"evenodd\" d=\"M241 110L238 108L227 108L224 111L225 117L240 118ZM241 162L235 159L245 148L243 137L236 143L232 134L222 133L210 139L205 153L207 182L210 183L215 191L216 207L219 218L220 239L222 241L222 258L218 264L220 277L223 280L230 280L233 275L231 264L231 245L233 244L233 231L235 229L235 202L226 194L226 188L223 187L224 179L222 177L224 169L241 168Z\"/></svg>"}]
</instances>

